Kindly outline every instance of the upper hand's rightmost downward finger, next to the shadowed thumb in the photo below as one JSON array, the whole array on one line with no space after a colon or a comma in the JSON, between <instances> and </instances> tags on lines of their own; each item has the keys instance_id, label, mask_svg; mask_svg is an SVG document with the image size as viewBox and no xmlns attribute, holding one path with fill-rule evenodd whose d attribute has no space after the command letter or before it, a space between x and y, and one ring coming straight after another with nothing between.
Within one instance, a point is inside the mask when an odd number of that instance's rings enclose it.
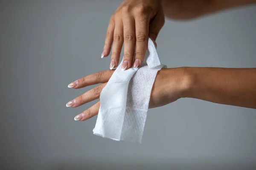
<instances>
[{"instance_id":1,"label":"upper hand's rightmost downward finger, next to the shadowed thumb","mask_svg":"<svg viewBox=\"0 0 256 170\"><path fill-rule=\"evenodd\" d=\"M134 68L138 68L142 64L148 43L149 18L145 14L140 14L139 16L140 17L135 18L136 52L133 65Z\"/></svg>"}]
</instances>

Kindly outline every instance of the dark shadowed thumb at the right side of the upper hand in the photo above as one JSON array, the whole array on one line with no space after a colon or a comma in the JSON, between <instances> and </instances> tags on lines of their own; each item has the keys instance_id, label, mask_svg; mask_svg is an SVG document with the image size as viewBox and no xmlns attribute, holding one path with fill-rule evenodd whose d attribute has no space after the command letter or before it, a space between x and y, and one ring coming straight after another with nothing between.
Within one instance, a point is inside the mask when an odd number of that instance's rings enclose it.
<instances>
[{"instance_id":1,"label":"dark shadowed thumb at the right side of the upper hand","mask_svg":"<svg viewBox=\"0 0 256 170\"><path fill-rule=\"evenodd\" d=\"M165 23L165 19L164 19L163 10L160 10L155 15L154 19L151 21L149 25L148 37L154 42L155 45L156 45L155 41L157 39L157 35L161 30L161 28L163 27L164 23Z\"/></svg>"}]
</instances>

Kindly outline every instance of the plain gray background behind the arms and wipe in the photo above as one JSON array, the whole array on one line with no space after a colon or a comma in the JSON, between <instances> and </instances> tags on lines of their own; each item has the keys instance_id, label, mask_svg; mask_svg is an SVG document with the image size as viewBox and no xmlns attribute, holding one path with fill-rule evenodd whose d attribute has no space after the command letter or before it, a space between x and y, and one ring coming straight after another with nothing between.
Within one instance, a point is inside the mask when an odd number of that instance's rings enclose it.
<instances>
[{"instance_id":1,"label":"plain gray background behind the arms and wipe","mask_svg":"<svg viewBox=\"0 0 256 170\"><path fill-rule=\"evenodd\" d=\"M180 99L150 109L142 144L93 135L89 108L65 104L91 87L67 85L109 68L101 59L120 0L0 1L0 168L243 169L256 165L256 110ZM166 20L157 39L168 67L256 67L256 6L189 22Z\"/></svg>"}]
</instances>

